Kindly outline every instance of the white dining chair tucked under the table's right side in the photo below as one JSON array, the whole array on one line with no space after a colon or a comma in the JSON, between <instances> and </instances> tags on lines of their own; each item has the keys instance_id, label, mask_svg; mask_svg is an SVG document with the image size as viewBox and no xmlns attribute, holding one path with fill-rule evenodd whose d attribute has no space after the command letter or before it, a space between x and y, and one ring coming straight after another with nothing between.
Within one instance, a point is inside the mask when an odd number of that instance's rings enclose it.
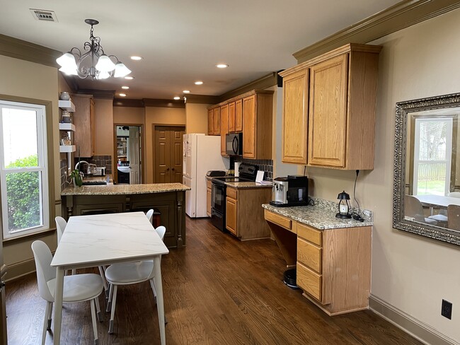
<instances>
[{"instance_id":1,"label":"white dining chair tucked under the table's right side","mask_svg":"<svg viewBox=\"0 0 460 345\"><path fill-rule=\"evenodd\" d=\"M159 226L155 229L161 240L164 238L166 228ZM105 270L105 279L110 283L110 293L107 303L107 312L110 311L110 324L108 332L113 333L113 320L115 318L115 304L117 303L117 288L119 285L131 285L149 281L151 291L155 291L154 281L154 262L145 260L141 262L126 262L121 264L112 264ZM166 320L166 319L165 319Z\"/></svg>"}]
</instances>

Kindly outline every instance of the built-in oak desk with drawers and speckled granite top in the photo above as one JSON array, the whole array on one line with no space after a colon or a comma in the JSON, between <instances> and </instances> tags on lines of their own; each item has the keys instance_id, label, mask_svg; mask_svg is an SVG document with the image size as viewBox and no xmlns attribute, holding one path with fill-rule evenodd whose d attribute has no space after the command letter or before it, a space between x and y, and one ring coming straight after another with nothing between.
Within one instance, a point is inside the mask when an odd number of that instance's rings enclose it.
<instances>
[{"instance_id":1,"label":"built-in oak desk with drawers and speckled granite top","mask_svg":"<svg viewBox=\"0 0 460 345\"><path fill-rule=\"evenodd\" d=\"M364 222L335 218L337 204L263 204L264 217L287 267L297 268L297 286L328 315L369 308L372 212Z\"/></svg>"}]
</instances>

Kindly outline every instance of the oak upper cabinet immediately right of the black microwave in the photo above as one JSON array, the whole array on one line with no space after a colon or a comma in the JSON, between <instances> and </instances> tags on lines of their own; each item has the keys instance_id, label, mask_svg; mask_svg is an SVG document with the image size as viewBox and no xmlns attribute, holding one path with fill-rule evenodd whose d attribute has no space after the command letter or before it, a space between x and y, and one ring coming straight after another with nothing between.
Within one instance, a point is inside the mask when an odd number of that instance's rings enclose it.
<instances>
[{"instance_id":1,"label":"oak upper cabinet immediately right of the black microwave","mask_svg":"<svg viewBox=\"0 0 460 345\"><path fill-rule=\"evenodd\" d=\"M273 91L243 95L243 158L272 159Z\"/></svg>"}]
</instances>

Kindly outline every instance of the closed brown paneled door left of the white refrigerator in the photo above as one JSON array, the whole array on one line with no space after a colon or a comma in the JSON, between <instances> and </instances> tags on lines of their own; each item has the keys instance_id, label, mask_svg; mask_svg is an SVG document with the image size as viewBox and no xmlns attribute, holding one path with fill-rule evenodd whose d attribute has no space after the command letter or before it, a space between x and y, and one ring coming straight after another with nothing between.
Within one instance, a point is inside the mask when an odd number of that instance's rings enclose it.
<instances>
[{"instance_id":1,"label":"closed brown paneled door left of the white refrigerator","mask_svg":"<svg viewBox=\"0 0 460 345\"><path fill-rule=\"evenodd\" d=\"M182 183L185 126L154 124L154 183Z\"/></svg>"}]
</instances>

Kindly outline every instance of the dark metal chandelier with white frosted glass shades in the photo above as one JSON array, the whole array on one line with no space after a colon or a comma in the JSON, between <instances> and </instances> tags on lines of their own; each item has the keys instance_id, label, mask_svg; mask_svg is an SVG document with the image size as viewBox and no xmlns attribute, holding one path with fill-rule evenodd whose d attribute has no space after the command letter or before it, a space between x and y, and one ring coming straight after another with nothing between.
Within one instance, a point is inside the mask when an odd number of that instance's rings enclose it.
<instances>
[{"instance_id":1,"label":"dark metal chandelier with white frosted glass shades","mask_svg":"<svg viewBox=\"0 0 460 345\"><path fill-rule=\"evenodd\" d=\"M106 55L100 45L100 37L93 36L93 25L99 22L95 19L85 19L85 23L91 25L89 42L84 43L84 54L81 50L73 47L69 52L58 57L56 62L61 66L59 71L65 74L79 76L80 78L106 79L110 76L121 78L131 73L130 69L122 64L115 55ZM112 61L115 59L115 62Z\"/></svg>"}]
</instances>

